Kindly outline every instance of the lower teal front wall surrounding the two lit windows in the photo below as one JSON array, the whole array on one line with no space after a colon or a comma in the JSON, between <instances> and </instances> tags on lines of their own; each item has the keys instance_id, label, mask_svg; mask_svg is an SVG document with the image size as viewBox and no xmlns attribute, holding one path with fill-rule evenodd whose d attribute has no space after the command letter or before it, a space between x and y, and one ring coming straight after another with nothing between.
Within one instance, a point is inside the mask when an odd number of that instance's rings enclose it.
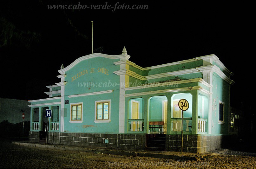
<instances>
[{"instance_id":1,"label":"lower teal front wall surrounding the two lit windows","mask_svg":"<svg viewBox=\"0 0 256 169\"><path fill-rule=\"evenodd\" d=\"M64 131L84 133L118 133L119 132L119 90L113 93L68 98L65 105ZM111 100L110 118L108 123L95 123L95 101ZM70 123L70 104L83 102L82 123Z\"/></svg>"}]
</instances>

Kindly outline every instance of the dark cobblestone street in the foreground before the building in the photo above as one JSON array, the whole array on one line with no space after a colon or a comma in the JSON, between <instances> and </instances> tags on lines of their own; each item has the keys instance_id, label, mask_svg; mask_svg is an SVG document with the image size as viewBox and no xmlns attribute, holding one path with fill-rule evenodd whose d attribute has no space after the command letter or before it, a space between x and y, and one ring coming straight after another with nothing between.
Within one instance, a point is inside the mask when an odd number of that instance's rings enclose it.
<instances>
[{"instance_id":1,"label":"dark cobblestone street in the foreground before the building","mask_svg":"<svg viewBox=\"0 0 256 169\"><path fill-rule=\"evenodd\" d=\"M77 152L1 140L1 168L256 168L256 153L218 149L198 161Z\"/></svg>"}]
</instances>

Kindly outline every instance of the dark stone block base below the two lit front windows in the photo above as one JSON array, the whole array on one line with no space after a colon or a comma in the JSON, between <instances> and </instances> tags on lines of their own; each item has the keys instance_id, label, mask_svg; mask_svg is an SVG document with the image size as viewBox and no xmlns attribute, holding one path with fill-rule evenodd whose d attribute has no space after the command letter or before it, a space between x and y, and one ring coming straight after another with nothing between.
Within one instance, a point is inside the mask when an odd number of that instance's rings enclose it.
<instances>
[{"instance_id":1,"label":"dark stone block base below the two lit front windows","mask_svg":"<svg viewBox=\"0 0 256 169\"><path fill-rule=\"evenodd\" d=\"M49 132L49 144L144 150L145 134Z\"/></svg>"}]
</instances>

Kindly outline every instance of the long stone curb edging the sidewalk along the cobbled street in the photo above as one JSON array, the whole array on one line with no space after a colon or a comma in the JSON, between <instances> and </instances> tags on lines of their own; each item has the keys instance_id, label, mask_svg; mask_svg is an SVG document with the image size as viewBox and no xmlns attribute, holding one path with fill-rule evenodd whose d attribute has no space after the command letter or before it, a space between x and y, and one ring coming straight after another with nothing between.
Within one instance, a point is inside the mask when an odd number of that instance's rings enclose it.
<instances>
[{"instance_id":1,"label":"long stone curb edging the sidewalk along the cobbled street","mask_svg":"<svg viewBox=\"0 0 256 169\"><path fill-rule=\"evenodd\" d=\"M124 150L106 150L100 149L97 147L71 147L65 145L53 145L53 144L37 144L37 143L24 143L13 141L12 144L21 145L21 146L31 146L39 148L55 148L59 150L69 150L69 151L79 151L79 152L89 152L89 153L104 153L104 154L113 154L113 155L126 155L126 156L138 156L138 157L153 157L159 159L174 159L174 160L194 160L198 161L200 158L198 156L187 156L187 155L173 155L173 154L164 154L164 153L145 153L145 152L135 152L135 151L124 151Z\"/></svg>"}]
</instances>

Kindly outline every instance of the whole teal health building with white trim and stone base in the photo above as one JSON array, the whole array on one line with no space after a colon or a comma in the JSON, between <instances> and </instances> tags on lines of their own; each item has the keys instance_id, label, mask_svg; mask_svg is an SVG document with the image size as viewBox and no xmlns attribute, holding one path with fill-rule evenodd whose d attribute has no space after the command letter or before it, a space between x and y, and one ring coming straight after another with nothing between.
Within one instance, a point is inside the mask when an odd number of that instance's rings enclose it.
<instances>
[{"instance_id":1,"label":"whole teal health building with white trim and stone base","mask_svg":"<svg viewBox=\"0 0 256 169\"><path fill-rule=\"evenodd\" d=\"M29 140L120 149L202 153L230 127L230 72L215 55L142 68L121 55L82 56L58 71L47 99L29 101ZM183 128L178 101L186 99ZM182 129L181 129L182 128ZM161 149L162 148L162 149Z\"/></svg>"}]
</instances>

